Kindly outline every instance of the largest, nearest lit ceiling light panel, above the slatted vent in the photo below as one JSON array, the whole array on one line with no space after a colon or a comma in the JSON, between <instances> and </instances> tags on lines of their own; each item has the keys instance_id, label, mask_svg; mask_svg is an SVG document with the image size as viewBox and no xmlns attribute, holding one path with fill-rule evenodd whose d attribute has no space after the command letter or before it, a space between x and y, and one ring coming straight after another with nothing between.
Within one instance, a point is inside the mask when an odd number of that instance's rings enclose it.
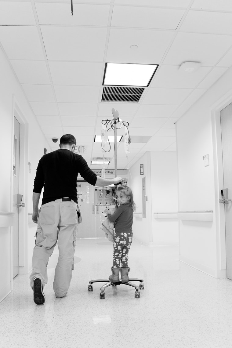
<instances>
[{"instance_id":1,"label":"largest, nearest lit ceiling light panel, above the slatted vent","mask_svg":"<svg viewBox=\"0 0 232 348\"><path fill-rule=\"evenodd\" d=\"M106 63L103 85L148 86L158 65Z\"/></svg>"}]
</instances>

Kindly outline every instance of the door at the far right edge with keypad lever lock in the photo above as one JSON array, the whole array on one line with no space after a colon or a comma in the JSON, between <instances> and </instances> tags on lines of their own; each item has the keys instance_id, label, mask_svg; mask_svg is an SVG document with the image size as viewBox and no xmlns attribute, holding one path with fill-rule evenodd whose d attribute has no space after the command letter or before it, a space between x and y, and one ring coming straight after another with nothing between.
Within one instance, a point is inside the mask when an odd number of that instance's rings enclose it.
<instances>
[{"instance_id":1,"label":"door at the far right edge with keypad lever lock","mask_svg":"<svg viewBox=\"0 0 232 348\"><path fill-rule=\"evenodd\" d=\"M232 199L232 104L220 112L224 188ZM223 189L223 188L222 188ZM232 279L232 203L224 204L226 232L226 277Z\"/></svg>"}]
</instances>

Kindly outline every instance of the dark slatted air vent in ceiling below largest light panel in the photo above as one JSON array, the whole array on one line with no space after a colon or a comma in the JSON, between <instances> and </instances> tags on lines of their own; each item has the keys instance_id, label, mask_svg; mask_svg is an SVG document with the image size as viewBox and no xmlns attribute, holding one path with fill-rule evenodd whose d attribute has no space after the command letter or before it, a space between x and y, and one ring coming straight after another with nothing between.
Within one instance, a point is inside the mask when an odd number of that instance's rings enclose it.
<instances>
[{"instance_id":1,"label":"dark slatted air vent in ceiling below largest light panel","mask_svg":"<svg viewBox=\"0 0 232 348\"><path fill-rule=\"evenodd\" d=\"M103 87L102 102L138 103L144 87Z\"/></svg>"}]
</instances>

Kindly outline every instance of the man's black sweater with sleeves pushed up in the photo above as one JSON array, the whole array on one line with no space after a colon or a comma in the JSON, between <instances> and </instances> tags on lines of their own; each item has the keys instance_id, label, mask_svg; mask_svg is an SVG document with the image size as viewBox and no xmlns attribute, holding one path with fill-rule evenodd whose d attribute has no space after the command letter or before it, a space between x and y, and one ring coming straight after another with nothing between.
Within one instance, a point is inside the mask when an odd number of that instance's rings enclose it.
<instances>
[{"instance_id":1,"label":"man's black sweater with sleeves pushed up","mask_svg":"<svg viewBox=\"0 0 232 348\"><path fill-rule=\"evenodd\" d=\"M95 185L97 176L81 155L67 149L59 149L44 155L38 164L33 192L43 191L42 204L62 197L77 203L78 173L89 184Z\"/></svg>"}]
</instances>

